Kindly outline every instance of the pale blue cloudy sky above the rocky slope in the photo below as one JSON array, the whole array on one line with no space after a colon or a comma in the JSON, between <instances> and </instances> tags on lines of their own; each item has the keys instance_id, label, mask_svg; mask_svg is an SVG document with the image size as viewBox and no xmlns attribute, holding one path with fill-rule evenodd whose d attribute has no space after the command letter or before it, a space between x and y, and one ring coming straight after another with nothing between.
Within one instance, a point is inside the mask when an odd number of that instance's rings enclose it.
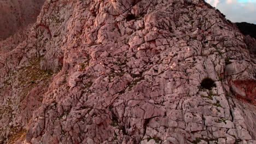
<instances>
[{"instance_id":1,"label":"pale blue cloudy sky above the rocky slope","mask_svg":"<svg viewBox=\"0 0 256 144\"><path fill-rule=\"evenodd\" d=\"M256 0L206 0L232 22L256 24Z\"/></svg>"}]
</instances>

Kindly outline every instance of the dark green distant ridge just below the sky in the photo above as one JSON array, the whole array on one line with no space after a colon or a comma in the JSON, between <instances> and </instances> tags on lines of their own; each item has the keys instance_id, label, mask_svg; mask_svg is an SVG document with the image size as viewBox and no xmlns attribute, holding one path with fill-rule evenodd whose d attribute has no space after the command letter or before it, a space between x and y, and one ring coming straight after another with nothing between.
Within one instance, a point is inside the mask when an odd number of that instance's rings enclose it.
<instances>
[{"instance_id":1,"label":"dark green distant ridge just below the sky","mask_svg":"<svg viewBox=\"0 0 256 144\"><path fill-rule=\"evenodd\" d=\"M256 39L256 25L247 22L235 22L235 24L244 35L250 35Z\"/></svg>"}]
</instances>

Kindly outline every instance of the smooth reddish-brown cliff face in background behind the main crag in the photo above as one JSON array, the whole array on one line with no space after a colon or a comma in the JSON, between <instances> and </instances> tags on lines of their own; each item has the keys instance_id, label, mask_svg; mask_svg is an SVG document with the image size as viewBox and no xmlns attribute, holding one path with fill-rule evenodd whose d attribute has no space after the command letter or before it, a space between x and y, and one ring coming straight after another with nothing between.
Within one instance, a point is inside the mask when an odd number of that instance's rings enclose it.
<instances>
[{"instance_id":1,"label":"smooth reddish-brown cliff face in background behind the main crag","mask_svg":"<svg viewBox=\"0 0 256 144\"><path fill-rule=\"evenodd\" d=\"M0 40L34 23L44 0L1 0Z\"/></svg>"}]
</instances>

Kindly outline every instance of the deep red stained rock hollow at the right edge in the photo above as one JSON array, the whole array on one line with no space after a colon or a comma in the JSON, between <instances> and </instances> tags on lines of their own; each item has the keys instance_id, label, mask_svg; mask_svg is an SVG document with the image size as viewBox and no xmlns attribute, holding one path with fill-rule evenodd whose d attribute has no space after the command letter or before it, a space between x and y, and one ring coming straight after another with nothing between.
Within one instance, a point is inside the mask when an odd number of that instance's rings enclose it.
<instances>
[{"instance_id":1,"label":"deep red stained rock hollow at the right edge","mask_svg":"<svg viewBox=\"0 0 256 144\"><path fill-rule=\"evenodd\" d=\"M231 82L231 89L235 92L238 99L245 100L256 105L256 81L255 80L237 80Z\"/></svg>"}]
</instances>

